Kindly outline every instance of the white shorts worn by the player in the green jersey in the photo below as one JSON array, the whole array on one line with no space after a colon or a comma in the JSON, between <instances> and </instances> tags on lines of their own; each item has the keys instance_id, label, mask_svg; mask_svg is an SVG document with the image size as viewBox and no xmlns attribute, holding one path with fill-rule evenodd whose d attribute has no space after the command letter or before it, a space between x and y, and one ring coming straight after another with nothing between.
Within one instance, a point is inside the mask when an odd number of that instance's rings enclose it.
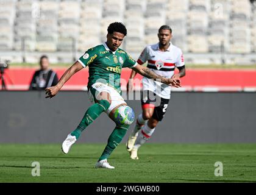
<instances>
[{"instance_id":1,"label":"white shorts worn by the player in the green jersey","mask_svg":"<svg viewBox=\"0 0 256 195\"><path fill-rule=\"evenodd\" d=\"M96 90L94 93L91 90L88 91L89 100L92 104L95 104L94 99L96 99L98 94L102 91L107 91L110 94L111 104L110 107L107 110L105 110L105 113L107 113L107 115L109 115L113 108L117 107L118 105L126 104L122 96L113 87L110 87L104 83L99 82L94 83L93 85L91 85L91 87Z\"/></svg>"}]
</instances>

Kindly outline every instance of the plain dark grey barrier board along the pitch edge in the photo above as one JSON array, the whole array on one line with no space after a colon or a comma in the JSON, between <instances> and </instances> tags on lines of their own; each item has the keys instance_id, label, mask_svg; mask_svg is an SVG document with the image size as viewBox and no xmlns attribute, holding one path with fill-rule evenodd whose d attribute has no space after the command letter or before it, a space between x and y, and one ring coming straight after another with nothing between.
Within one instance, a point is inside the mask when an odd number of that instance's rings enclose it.
<instances>
[{"instance_id":1,"label":"plain dark grey barrier board along the pitch edge","mask_svg":"<svg viewBox=\"0 0 256 195\"><path fill-rule=\"evenodd\" d=\"M51 100L42 91L1 91L0 99L0 143L62 143L91 105L86 91L60 91ZM255 143L255 100L256 93L174 92L150 142ZM140 101L126 102L141 113ZM78 141L105 143L114 127L102 114Z\"/></svg>"}]
</instances>

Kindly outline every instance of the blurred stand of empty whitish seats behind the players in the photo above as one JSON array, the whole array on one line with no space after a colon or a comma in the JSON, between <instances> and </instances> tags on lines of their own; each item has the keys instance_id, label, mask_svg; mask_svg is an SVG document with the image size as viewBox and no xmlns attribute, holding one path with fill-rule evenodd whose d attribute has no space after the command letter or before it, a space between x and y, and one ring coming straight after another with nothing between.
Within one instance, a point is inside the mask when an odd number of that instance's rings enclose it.
<instances>
[{"instance_id":1,"label":"blurred stand of empty whitish seats behind the players","mask_svg":"<svg viewBox=\"0 0 256 195\"><path fill-rule=\"evenodd\" d=\"M102 43L108 24L121 21L128 30L122 48L135 58L158 41L158 27L168 24L172 43L191 54L187 62L200 56L212 63L224 52L227 62L250 64L256 52L255 10L249 0L0 0L0 52L12 62L23 50L30 52L27 61L55 52L62 62L71 51L79 56Z\"/></svg>"}]
</instances>

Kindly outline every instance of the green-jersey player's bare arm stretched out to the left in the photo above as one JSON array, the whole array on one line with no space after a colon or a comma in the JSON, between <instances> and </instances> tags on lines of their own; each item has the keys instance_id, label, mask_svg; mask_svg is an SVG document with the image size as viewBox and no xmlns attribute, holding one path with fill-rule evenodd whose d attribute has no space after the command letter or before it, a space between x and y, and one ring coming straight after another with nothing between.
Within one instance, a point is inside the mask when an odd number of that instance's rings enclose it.
<instances>
[{"instance_id":1,"label":"green-jersey player's bare arm stretched out to the left","mask_svg":"<svg viewBox=\"0 0 256 195\"><path fill-rule=\"evenodd\" d=\"M67 82L68 79L70 79L70 77L72 77L75 73L80 71L80 69L82 69L82 68L84 68L84 67L79 62L75 62L71 67L69 67L66 70L66 72L63 74L63 76L60 78L57 85L55 85L53 87L48 87L45 89L45 94L46 94L45 98L53 98L63 87L65 82Z\"/></svg>"}]
</instances>

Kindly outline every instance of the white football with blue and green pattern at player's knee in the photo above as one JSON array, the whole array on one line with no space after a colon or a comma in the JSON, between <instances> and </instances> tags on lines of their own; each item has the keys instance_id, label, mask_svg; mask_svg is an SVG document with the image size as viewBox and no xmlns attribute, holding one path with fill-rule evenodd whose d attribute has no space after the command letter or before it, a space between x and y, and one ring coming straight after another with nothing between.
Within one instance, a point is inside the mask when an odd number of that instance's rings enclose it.
<instances>
[{"instance_id":1,"label":"white football with blue and green pattern at player's knee","mask_svg":"<svg viewBox=\"0 0 256 195\"><path fill-rule=\"evenodd\" d=\"M122 105L115 110L114 119L116 124L132 124L135 114L127 105Z\"/></svg>"}]
</instances>

